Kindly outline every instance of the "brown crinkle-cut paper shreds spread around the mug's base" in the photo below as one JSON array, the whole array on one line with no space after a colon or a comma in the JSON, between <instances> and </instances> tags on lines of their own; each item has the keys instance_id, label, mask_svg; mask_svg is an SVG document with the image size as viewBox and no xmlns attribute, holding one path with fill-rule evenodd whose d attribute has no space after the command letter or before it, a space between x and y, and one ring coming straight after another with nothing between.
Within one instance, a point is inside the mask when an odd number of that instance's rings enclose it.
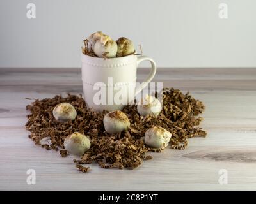
<instances>
[{"instance_id":1,"label":"brown crinkle-cut paper shreds spread around the mug's base","mask_svg":"<svg viewBox=\"0 0 256 204\"><path fill-rule=\"evenodd\" d=\"M54 119L54 106L63 102L70 103L76 108L75 120L60 123ZM107 111L93 112L86 108L82 96L68 94L66 98L55 96L36 99L31 105L26 106L31 112L28 115L26 129L31 132L29 138L36 145L41 145L40 140L49 137L51 145L41 146L53 150L61 148L62 157L68 155L68 152L63 150L63 143L68 135L77 131L88 136L91 141L90 149L80 159L74 159L76 168L84 173L88 172L89 168L83 168L81 165L90 163L98 163L102 168L133 169L140 166L144 160L152 159L152 156L146 155L151 149L143 142L145 131L152 126L161 126L172 133L172 149L184 149L188 145L188 138L205 137L206 132L198 128L202 120L198 115L204 108L203 103L189 93L182 94L178 89L164 88L163 110L157 117L142 117L138 114L136 105L127 105L122 112L129 118L131 126L122 133L109 134L103 125L103 117Z\"/></svg>"}]
</instances>

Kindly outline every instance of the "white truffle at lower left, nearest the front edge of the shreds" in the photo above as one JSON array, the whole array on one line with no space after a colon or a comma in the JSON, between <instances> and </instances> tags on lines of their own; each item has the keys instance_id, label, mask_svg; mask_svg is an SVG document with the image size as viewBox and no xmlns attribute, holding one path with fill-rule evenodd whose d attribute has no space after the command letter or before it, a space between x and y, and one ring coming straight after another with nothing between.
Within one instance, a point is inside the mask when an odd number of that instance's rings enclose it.
<instances>
[{"instance_id":1,"label":"white truffle at lower left, nearest the front edge of the shreds","mask_svg":"<svg viewBox=\"0 0 256 204\"><path fill-rule=\"evenodd\" d=\"M81 156L90 149L91 143L85 135L74 132L64 140L65 149L74 156Z\"/></svg>"}]
</instances>

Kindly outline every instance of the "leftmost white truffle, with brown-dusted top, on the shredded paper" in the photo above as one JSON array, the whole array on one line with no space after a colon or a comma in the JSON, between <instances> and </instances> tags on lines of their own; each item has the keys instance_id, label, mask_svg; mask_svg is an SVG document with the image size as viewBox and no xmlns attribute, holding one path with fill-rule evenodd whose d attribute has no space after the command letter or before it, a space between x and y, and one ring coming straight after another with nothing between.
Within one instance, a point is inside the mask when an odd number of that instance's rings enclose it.
<instances>
[{"instance_id":1,"label":"leftmost white truffle, with brown-dusted top, on the shredded paper","mask_svg":"<svg viewBox=\"0 0 256 204\"><path fill-rule=\"evenodd\" d=\"M54 118L58 122L67 122L76 119L76 109L70 103L59 103L52 110Z\"/></svg>"}]
</instances>

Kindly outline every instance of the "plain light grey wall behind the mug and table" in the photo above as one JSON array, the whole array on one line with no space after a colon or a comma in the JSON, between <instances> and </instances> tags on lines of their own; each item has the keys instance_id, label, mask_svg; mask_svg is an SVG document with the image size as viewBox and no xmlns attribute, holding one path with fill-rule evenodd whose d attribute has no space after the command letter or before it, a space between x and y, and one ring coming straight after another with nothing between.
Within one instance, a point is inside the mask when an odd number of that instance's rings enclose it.
<instances>
[{"instance_id":1,"label":"plain light grey wall behind the mug and table","mask_svg":"<svg viewBox=\"0 0 256 204\"><path fill-rule=\"evenodd\" d=\"M159 67L256 67L255 0L1 0L0 16L1 68L79 67L82 40L99 30L141 44Z\"/></svg>"}]
</instances>

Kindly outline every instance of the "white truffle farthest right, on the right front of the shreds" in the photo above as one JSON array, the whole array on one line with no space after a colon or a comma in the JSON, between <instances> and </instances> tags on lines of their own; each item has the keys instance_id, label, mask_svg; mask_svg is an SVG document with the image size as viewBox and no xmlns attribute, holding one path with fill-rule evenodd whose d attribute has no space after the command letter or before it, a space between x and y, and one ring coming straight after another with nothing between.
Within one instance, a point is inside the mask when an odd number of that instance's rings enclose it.
<instances>
[{"instance_id":1,"label":"white truffle farthest right, on the right front of the shreds","mask_svg":"<svg viewBox=\"0 0 256 204\"><path fill-rule=\"evenodd\" d=\"M171 137L172 134L166 129L154 126L146 131L144 141L148 147L164 149L168 146Z\"/></svg>"}]
</instances>

